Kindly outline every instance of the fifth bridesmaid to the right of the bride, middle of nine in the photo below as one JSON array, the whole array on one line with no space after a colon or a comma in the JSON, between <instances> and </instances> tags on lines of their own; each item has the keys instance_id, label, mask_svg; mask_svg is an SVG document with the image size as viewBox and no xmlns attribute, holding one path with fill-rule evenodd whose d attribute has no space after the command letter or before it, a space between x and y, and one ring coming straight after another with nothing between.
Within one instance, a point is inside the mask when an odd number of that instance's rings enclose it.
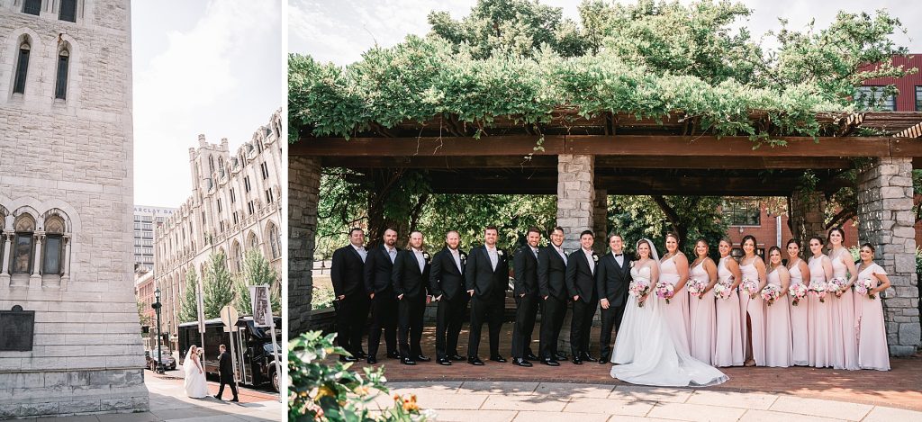
<instances>
[{"instance_id":1,"label":"fifth bridesmaid to the right of the bride, middle of nine","mask_svg":"<svg viewBox=\"0 0 922 422\"><path fill-rule=\"evenodd\" d=\"M773 302L765 301L765 366L791 366L791 313L787 300L790 275L781 264L781 248L768 250L768 284L781 292Z\"/></svg>"}]
</instances>

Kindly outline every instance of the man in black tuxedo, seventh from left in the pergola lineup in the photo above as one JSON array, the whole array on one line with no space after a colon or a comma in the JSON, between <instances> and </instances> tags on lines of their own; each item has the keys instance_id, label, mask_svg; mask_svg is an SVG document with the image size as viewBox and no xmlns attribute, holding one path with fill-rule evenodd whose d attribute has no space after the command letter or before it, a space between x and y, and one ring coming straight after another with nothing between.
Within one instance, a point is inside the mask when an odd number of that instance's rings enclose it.
<instances>
[{"instance_id":1,"label":"man in black tuxedo, seventh from left in the pergola lineup","mask_svg":"<svg viewBox=\"0 0 922 422\"><path fill-rule=\"evenodd\" d=\"M558 359L566 359L557 350L563 314L567 311L566 276L567 255L563 253L563 229L550 231L550 245L538 251L538 291L541 295L541 343L538 354L541 363L561 366Z\"/></svg>"}]
</instances>

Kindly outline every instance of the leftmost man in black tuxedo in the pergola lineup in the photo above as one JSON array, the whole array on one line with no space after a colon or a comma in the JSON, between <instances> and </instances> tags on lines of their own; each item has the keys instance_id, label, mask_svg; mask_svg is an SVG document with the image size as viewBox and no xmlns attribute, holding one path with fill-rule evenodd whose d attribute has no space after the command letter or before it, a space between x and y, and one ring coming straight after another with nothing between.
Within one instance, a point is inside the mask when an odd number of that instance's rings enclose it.
<instances>
[{"instance_id":1,"label":"leftmost man in black tuxedo in the pergola lineup","mask_svg":"<svg viewBox=\"0 0 922 422\"><path fill-rule=\"evenodd\" d=\"M368 319L368 296L365 294L365 232L362 229L349 230L349 245L333 252L333 302L337 310L337 342L352 356L340 356L343 362L354 362L366 358L361 350L361 331Z\"/></svg>"}]
</instances>

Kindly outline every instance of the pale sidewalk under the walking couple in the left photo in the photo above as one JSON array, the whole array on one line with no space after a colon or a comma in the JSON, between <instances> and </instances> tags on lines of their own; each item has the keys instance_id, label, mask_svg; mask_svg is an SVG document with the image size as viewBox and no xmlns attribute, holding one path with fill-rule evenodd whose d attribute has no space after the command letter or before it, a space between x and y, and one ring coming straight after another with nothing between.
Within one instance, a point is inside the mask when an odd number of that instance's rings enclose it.
<instances>
[{"instance_id":1,"label":"pale sidewalk under the walking couple in the left photo","mask_svg":"<svg viewBox=\"0 0 922 422\"><path fill-rule=\"evenodd\" d=\"M240 389L241 403L231 403L231 393L224 391L224 401L214 397L194 399L185 395L183 379L153 376L146 370L144 383L150 392L150 411L134 414L81 415L22 419L30 422L222 422L284 420L284 407L278 395ZM208 390L218 393L218 383L208 382Z\"/></svg>"}]
</instances>

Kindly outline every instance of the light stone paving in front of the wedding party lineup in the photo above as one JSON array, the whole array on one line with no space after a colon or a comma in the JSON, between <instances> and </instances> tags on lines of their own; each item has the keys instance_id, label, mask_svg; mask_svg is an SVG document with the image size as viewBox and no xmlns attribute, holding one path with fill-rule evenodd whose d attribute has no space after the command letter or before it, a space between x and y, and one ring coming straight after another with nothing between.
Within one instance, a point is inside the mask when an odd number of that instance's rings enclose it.
<instances>
[{"instance_id":1,"label":"light stone paving in front of the wedding party lineup","mask_svg":"<svg viewBox=\"0 0 922 422\"><path fill-rule=\"evenodd\" d=\"M375 404L392 405L394 393L415 393L420 408L434 410L439 421L922 421L922 412L912 410L772 393L521 381L388 386L391 393L375 397Z\"/></svg>"}]
</instances>

